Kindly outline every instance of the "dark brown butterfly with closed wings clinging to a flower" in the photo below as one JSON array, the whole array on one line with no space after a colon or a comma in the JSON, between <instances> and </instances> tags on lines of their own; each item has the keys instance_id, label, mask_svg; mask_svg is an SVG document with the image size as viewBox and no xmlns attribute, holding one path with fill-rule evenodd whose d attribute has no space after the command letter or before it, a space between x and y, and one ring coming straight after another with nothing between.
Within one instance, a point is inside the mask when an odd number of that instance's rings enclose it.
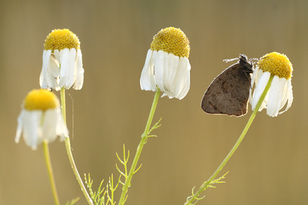
<instances>
[{"instance_id":1,"label":"dark brown butterfly with closed wings clinging to a flower","mask_svg":"<svg viewBox=\"0 0 308 205\"><path fill-rule=\"evenodd\" d=\"M244 54L235 59L239 61L219 74L205 91L201 101L204 112L230 116L246 114L253 63Z\"/></svg>"}]
</instances>

